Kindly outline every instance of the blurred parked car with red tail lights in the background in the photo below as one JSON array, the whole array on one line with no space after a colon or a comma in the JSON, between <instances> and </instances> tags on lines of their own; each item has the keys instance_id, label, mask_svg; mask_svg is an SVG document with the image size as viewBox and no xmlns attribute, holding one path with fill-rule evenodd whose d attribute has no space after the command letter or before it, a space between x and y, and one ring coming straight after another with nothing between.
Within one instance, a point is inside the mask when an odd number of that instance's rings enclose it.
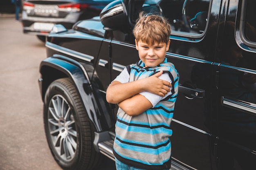
<instances>
[{"instance_id":1,"label":"blurred parked car with red tail lights in the background","mask_svg":"<svg viewBox=\"0 0 256 170\"><path fill-rule=\"evenodd\" d=\"M24 0L23 33L37 35L45 42L55 24L71 29L79 20L99 15L112 0Z\"/></svg>"}]
</instances>

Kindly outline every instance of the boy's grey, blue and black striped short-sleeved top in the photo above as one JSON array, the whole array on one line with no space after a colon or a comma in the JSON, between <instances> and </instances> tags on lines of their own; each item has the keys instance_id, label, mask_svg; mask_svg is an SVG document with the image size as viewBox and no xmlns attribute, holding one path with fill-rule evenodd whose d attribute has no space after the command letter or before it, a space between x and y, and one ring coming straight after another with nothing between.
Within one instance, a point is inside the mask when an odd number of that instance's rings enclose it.
<instances>
[{"instance_id":1,"label":"boy's grey, blue and black striped short-sleeved top","mask_svg":"<svg viewBox=\"0 0 256 170\"><path fill-rule=\"evenodd\" d=\"M144 66L141 60L127 66L128 82L149 77L163 70L163 74L168 73L171 79L171 92L138 116L129 116L121 108L118 109L113 153L119 161L129 166L147 170L169 169L169 137L172 135L170 124L178 93L179 76L174 65L167 62L167 58L156 67ZM118 78L114 81L118 81Z\"/></svg>"}]
</instances>

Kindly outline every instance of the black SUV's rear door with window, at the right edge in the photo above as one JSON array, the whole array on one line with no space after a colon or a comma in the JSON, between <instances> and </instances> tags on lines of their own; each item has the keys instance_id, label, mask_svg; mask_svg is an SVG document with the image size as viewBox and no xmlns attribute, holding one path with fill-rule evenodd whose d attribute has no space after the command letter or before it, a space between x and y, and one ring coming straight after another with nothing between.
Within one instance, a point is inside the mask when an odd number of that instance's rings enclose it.
<instances>
[{"instance_id":1,"label":"black SUV's rear door with window, at the right edge","mask_svg":"<svg viewBox=\"0 0 256 170\"><path fill-rule=\"evenodd\" d=\"M256 167L255 5L253 0L230 1L219 25L215 101L220 169Z\"/></svg>"}]
</instances>

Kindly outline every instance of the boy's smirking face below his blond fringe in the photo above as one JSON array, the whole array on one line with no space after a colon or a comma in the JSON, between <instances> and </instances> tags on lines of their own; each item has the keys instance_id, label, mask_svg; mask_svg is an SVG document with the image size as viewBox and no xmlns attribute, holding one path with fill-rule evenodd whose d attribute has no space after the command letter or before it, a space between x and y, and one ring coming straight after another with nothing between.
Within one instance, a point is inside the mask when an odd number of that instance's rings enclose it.
<instances>
[{"instance_id":1,"label":"boy's smirking face below his blond fringe","mask_svg":"<svg viewBox=\"0 0 256 170\"><path fill-rule=\"evenodd\" d=\"M153 45L135 40L135 45L139 52L139 58L144 62L145 67L155 67L164 62L165 52L169 50L170 40L167 44L161 42Z\"/></svg>"}]
</instances>

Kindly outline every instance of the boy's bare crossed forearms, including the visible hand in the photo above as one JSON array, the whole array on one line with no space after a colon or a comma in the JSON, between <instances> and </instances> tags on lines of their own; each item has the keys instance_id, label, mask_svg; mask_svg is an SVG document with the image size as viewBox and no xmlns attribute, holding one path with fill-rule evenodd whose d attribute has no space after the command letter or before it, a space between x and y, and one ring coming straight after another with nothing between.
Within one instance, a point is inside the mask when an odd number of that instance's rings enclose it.
<instances>
[{"instance_id":1,"label":"boy's bare crossed forearms, including the visible hand","mask_svg":"<svg viewBox=\"0 0 256 170\"><path fill-rule=\"evenodd\" d=\"M171 83L158 78L162 73L123 84L114 81L107 89L106 99L109 103L118 104L130 116L139 115L152 107L150 101L139 93L148 91L164 97L170 92Z\"/></svg>"}]
</instances>

